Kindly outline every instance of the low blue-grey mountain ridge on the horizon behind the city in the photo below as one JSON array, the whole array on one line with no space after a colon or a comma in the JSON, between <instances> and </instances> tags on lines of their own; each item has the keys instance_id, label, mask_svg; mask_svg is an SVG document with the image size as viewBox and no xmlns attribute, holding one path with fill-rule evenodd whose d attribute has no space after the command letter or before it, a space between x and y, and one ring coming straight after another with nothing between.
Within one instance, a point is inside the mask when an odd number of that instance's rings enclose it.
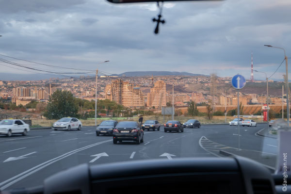
<instances>
[{"instance_id":1,"label":"low blue-grey mountain ridge on the horizon behind the city","mask_svg":"<svg viewBox=\"0 0 291 194\"><path fill-rule=\"evenodd\" d=\"M207 76L202 74L194 74L178 71L129 71L121 74L113 74L112 76L139 77L139 76Z\"/></svg>"}]
</instances>

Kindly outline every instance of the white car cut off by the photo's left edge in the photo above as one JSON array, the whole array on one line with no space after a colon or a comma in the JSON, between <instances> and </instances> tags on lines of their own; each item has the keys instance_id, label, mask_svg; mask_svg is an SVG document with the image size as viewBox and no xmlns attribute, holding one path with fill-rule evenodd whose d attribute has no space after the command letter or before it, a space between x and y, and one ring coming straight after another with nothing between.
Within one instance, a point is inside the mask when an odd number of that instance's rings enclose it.
<instances>
[{"instance_id":1,"label":"white car cut off by the photo's left edge","mask_svg":"<svg viewBox=\"0 0 291 194\"><path fill-rule=\"evenodd\" d=\"M30 131L29 125L22 120L1 120L0 121L0 134L10 137L12 134L18 133L26 135Z\"/></svg>"}]
</instances>

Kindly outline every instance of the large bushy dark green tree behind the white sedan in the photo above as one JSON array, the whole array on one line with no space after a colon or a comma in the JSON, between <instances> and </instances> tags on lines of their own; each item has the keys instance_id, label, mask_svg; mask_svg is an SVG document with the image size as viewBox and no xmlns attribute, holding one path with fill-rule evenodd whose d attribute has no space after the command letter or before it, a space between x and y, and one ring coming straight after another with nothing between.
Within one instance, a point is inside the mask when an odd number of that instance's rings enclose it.
<instances>
[{"instance_id":1,"label":"large bushy dark green tree behind the white sedan","mask_svg":"<svg viewBox=\"0 0 291 194\"><path fill-rule=\"evenodd\" d=\"M45 116L48 119L60 119L62 117L76 117L78 113L78 105L70 91L55 91L49 97L47 112Z\"/></svg>"}]
</instances>

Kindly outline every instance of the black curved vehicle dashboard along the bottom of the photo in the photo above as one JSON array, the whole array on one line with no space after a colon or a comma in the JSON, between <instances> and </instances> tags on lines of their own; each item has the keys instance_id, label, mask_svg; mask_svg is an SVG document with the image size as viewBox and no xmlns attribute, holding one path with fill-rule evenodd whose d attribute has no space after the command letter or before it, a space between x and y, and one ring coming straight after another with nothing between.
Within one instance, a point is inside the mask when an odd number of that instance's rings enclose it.
<instances>
[{"instance_id":1,"label":"black curved vehicle dashboard along the bottom of the photo","mask_svg":"<svg viewBox=\"0 0 291 194\"><path fill-rule=\"evenodd\" d=\"M41 187L6 193L275 194L275 181L267 168L242 157L180 158L81 164L47 178Z\"/></svg>"}]
</instances>

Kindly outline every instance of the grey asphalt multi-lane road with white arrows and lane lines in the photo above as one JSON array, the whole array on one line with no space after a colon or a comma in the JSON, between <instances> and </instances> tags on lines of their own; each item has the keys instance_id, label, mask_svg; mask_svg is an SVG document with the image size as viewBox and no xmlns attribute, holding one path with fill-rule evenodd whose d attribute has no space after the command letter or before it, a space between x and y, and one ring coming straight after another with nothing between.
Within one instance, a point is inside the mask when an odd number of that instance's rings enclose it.
<instances>
[{"instance_id":1,"label":"grey asphalt multi-lane road with white arrows and lane lines","mask_svg":"<svg viewBox=\"0 0 291 194\"><path fill-rule=\"evenodd\" d=\"M221 151L275 167L277 140L257 136L266 125L203 125L184 132L145 131L145 142L113 145L112 137L96 136L95 127L78 130L31 130L27 136L0 136L0 190L42 185L43 180L81 163L90 165L179 157L226 157ZM240 149L239 148L240 137Z\"/></svg>"}]
</instances>

